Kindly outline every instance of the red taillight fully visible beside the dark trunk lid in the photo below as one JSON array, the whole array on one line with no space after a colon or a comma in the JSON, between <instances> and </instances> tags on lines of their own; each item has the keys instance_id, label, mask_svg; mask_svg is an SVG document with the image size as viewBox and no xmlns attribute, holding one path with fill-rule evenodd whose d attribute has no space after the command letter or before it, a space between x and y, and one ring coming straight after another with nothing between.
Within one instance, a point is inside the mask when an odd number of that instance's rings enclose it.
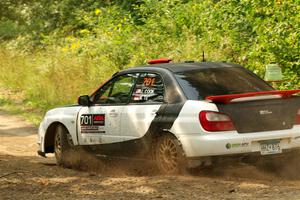
<instances>
[{"instance_id":1,"label":"red taillight fully visible beside the dark trunk lid","mask_svg":"<svg viewBox=\"0 0 300 200\"><path fill-rule=\"evenodd\" d=\"M199 121L206 131L231 131L235 127L228 115L213 111L201 111Z\"/></svg>"}]
</instances>

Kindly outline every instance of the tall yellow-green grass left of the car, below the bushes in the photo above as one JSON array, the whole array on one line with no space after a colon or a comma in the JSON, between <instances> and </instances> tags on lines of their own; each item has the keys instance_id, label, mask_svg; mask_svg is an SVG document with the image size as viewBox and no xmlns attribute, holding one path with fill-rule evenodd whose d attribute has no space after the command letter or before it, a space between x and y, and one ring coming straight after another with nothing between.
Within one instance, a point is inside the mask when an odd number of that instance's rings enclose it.
<instances>
[{"instance_id":1,"label":"tall yellow-green grass left of the car, below the bushes","mask_svg":"<svg viewBox=\"0 0 300 200\"><path fill-rule=\"evenodd\" d=\"M0 49L0 71L1 109L38 124L47 110L92 93L115 69L56 51L23 54Z\"/></svg>"}]
</instances>

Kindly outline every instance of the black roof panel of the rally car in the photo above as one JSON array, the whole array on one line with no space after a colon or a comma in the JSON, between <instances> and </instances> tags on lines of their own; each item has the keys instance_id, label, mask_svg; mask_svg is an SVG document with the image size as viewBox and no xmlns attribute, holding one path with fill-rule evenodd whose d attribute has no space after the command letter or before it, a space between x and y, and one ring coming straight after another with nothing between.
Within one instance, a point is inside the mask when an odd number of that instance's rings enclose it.
<instances>
[{"instance_id":1,"label":"black roof panel of the rally car","mask_svg":"<svg viewBox=\"0 0 300 200\"><path fill-rule=\"evenodd\" d=\"M226 62L193 62L187 61L182 63L161 63L161 64L153 64L153 65L145 65L139 66L134 68L129 68L123 70L122 72L133 72L139 70L159 70L159 69L167 69L173 73L183 72L183 71L190 71L190 70L197 70L197 69L207 69L207 68L224 68L224 67L242 67L238 64L233 63L226 63ZM151 70L152 71L152 70Z\"/></svg>"}]
</instances>

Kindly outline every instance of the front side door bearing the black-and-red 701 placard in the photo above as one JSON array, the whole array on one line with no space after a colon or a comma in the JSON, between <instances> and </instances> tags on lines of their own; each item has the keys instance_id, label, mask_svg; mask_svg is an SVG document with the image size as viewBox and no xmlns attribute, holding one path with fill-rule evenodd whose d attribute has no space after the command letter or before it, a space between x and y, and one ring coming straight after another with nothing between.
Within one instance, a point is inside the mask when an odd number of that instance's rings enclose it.
<instances>
[{"instance_id":1,"label":"front side door bearing the black-and-red 701 placard","mask_svg":"<svg viewBox=\"0 0 300 200\"><path fill-rule=\"evenodd\" d=\"M92 97L93 105L83 107L78 116L80 145L121 142L121 116L137 78L137 74L118 76Z\"/></svg>"}]
</instances>

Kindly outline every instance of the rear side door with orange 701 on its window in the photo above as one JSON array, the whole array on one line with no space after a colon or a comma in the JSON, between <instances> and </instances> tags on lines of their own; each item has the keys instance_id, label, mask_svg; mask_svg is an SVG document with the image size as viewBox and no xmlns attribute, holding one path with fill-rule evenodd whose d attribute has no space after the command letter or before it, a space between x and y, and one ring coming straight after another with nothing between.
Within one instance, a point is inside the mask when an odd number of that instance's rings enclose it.
<instances>
[{"instance_id":1,"label":"rear side door with orange 701 on its window","mask_svg":"<svg viewBox=\"0 0 300 200\"><path fill-rule=\"evenodd\" d=\"M164 92L160 75L140 74L121 120L124 139L140 139L146 134L152 121L157 117L157 111L164 103Z\"/></svg>"}]
</instances>

